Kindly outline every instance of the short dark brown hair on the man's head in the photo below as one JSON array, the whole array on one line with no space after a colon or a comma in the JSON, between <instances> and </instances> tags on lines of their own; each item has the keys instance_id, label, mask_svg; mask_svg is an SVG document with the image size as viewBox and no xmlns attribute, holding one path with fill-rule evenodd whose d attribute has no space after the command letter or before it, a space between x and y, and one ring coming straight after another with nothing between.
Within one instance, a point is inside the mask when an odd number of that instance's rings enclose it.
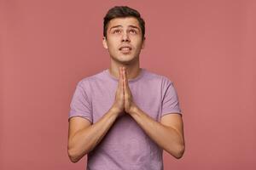
<instances>
[{"instance_id":1,"label":"short dark brown hair on the man's head","mask_svg":"<svg viewBox=\"0 0 256 170\"><path fill-rule=\"evenodd\" d=\"M142 30L143 39L145 37L145 21L141 17L141 14L137 12L136 9L130 8L127 6L115 6L108 10L108 13L104 17L104 26L103 26L103 36L107 38L107 30L108 30L108 23L110 20L115 18L124 18L124 17L135 17L138 22L139 26Z\"/></svg>"}]
</instances>

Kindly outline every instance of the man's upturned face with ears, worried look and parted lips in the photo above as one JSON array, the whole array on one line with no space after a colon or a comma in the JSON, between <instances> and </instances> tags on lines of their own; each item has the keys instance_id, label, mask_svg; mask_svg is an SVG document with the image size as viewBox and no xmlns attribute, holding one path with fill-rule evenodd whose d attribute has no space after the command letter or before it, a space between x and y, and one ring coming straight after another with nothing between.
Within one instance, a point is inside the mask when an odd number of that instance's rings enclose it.
<instances>
[{"instance_id":1,"label":"man's upturned face with ears, worried look and parted lips","mask_svg":"<svg viewBox=\"0 0 256 170\"><path fill-rule=\"evenodd\" d=\"M138 61L144 46L142 30L134 17L116 18L108 22L107 38L103 46L108 48L110 57L122 64Z\"/></svg>"}]
</instances>

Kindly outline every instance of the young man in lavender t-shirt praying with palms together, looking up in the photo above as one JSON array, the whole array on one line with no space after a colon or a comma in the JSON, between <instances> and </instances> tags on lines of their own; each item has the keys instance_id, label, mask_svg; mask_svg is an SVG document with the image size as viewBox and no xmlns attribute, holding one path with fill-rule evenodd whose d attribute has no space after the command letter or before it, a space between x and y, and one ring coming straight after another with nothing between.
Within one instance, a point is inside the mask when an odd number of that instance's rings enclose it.
<instances>
[{"instance_id":1,"label":"young man in lavender t-shirt praying with palms together, looking up","mask_svg":"<svg viewBox=\"0 0 256 170\"><path fill-rule=\"evenodd\" d=\"M81 80L69 112L68 156L87 168L163 169L162 151L183 156L183 121L173 83L140 68L144 21L129 7L109 9L103 46L110 67Z\"/></svg>"}]
</instances>

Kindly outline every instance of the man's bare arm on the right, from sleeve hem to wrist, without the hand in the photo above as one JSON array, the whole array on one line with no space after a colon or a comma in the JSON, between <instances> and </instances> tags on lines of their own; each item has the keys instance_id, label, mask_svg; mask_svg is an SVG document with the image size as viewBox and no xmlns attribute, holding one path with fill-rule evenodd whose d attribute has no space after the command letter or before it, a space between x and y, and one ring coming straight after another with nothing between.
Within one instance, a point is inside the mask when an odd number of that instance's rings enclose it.
<instances>
[{"instance_id":1,"label":"man's bare arm on the right, from sleeve hem to wrist, without the hand","mask_svg":"<svg viewBox=\"0 0 256 170\"><path fill-rule=\"evenodd\" d=\"M160 122L154 121L139 108L130 113L133 119L143 128L148 137L162 149L177 159L183 156L185 149L183 139L183 122L179 114L168 114Z\"/></svg>"}]
</instances>

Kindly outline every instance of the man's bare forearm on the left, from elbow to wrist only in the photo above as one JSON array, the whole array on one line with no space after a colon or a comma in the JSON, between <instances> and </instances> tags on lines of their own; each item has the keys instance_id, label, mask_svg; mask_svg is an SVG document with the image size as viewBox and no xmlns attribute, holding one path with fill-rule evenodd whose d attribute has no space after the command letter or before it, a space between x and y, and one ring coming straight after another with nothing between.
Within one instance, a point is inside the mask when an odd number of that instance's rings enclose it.
<instances>
[{"instance_id":1,"label":"man's bare forearm on the left, from elbow to wrist only","mask_svg":"<svg viewBox=\"0 0 256 170\"><path fill-rule=\"evenodd\" d=\"M98 122L73 135L69 142L69 150L73 153L74 161L79 161L100 143L118 115L116 111L110 109Z\"/></svg>"}]
</instances>

